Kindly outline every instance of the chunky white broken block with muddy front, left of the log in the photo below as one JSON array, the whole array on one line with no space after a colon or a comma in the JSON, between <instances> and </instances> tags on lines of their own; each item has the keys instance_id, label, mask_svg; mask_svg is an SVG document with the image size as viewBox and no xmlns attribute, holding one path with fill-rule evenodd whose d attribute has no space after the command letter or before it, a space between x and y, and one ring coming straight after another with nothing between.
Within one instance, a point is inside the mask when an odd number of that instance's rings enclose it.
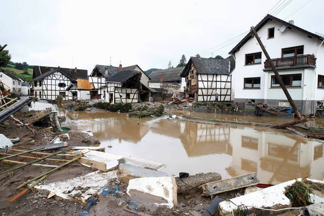
<instances>
[{"instance_id":1,"label":"chunky white broken block with muddy front, left of the log","mask_svg":"<svg viewBox=\"0 0 324 216\"><path fill-rule=\"evenodd\" d=\"M177 184L173 177L148 177L131 179L127 194L135 203L155 210L158 206L173 208L177 205Z\"/></svg>"}]
</instances>

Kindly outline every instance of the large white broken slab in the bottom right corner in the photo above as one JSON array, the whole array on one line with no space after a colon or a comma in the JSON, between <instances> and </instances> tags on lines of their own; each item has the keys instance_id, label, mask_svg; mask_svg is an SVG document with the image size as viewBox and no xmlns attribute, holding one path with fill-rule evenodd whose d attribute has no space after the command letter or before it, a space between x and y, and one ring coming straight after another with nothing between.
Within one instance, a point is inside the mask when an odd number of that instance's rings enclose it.
<instances>
[{"instance_id":1,"label":"large white broken slab in the bottom right corner","mask_svg":"<svg viewBox=\"0 0 324 216\"><path fill-rule=\"evenodd\" d=\"M298 181L301 181L301 179L297 179ZM308 181L313 181L311 179L307 179ZM317 183L321 182L321 184L324 183L324 181L316 181ZM223 201L219 203L218 213L219 216L225 216L227 214L232 214L232 211L236 211L238 209L238 206L243 206L244 210L246 210L246 213L252 212L253 207L255 208L264 208L264 209L283 209L283 208L289 208L292 206L291 201L287 196L285 196L286 188L292 186L294 183L296 183L296 180L291 180L288 182L281 183L279 185L271 186L269 188L265 188L262 190L258 190L255 192L248 193L243 196L235 197L233 199L230 199L230 201ZM315 196L312 196L310 194L310 197L315 198ZM320 201L319 199L314 199L317 201ZM234 204L235 203L235 204ZM269 211L265 211L262 213L264 214L270 214Z\"/></svg>"}]
</instances>

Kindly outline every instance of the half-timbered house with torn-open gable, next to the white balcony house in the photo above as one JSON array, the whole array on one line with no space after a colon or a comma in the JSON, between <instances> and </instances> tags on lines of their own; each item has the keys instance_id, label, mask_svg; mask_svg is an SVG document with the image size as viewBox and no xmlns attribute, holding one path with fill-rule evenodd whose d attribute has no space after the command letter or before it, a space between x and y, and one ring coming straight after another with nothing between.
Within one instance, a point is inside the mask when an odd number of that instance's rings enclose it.
<instances>
[{"instance_id":1,"label":"half-timbered house with torn-open gable, next to the white balcony house","mask_svg":"<svg viewBox=\"0 0 324 216\"><path fill-rule=\"evenodd\" d=\"M181 77L186 95L199 102L232 101L234 59L190 57Z\"/></svg>"}]
</instances>

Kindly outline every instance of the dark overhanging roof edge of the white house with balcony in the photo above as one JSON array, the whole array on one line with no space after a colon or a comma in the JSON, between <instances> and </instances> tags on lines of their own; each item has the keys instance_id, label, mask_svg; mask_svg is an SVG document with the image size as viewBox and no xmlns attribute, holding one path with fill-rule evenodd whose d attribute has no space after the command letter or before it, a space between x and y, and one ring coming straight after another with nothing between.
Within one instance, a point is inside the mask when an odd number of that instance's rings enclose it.
<instances>
[{"instance_id":1,"label":"dark overhanging roof edge of the white house with balcony","mask_svg":"<svg viewBox=\"0 0 324 216\"><path fill-rule=\"evenodd\" d=\"M312 38L312 37L315 37L315 38L318 38L320 40L324 40L324 38L318 34L314 34L312 32L309 32L303 28L300 28L300 27L297 27L293 24L290 24L290 23L287 23L286 21L283 21L279 18L276 18L274 16L271 16L270 14L267 14L267 16L265 18L263 18L260 23L258 23L254 28L256 31L258 31L260 28L262 28L268 21L271 21L271 20L275 20L279 23L282 23L283 25L285 25L286 27L289 27L291 29L295 29L301 33L304 33L306 34L308 37ZM248 32L247 35L228 53L228 54L235 54L237 51L240 50L240 48L252 37L252 32Z\"/></svg>"}]
</instances>

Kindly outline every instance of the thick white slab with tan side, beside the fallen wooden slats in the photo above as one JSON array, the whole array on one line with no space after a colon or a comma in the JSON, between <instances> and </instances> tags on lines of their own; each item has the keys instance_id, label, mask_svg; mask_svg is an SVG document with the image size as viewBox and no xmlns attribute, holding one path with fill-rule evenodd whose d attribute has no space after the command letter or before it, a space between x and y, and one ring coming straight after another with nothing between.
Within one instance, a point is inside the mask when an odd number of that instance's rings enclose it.
<instances>
[{"instance_id":1,"label":"thick white slab with tan side, beside the fallen wooden slats","mask_svg":"<svg viewBox=\"0 0 324 216\"><path fill-rule=\"evenodd\" d=\"M82 150L81 152L86 152ZM125 162L123 157L119 155L109 154L105 152L93 151L86 153L82 158L79 159L81 163L84 163L92 168L107 171L112 169L118 164Z\"/></svg>"}]
</instances>

